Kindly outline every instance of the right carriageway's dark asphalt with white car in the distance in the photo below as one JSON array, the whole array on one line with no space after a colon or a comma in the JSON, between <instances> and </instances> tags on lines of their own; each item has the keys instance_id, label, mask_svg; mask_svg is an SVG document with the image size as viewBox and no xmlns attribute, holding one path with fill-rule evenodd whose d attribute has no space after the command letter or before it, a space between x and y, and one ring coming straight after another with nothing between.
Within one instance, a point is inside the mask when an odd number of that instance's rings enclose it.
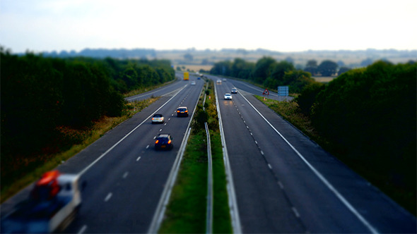
<instances>
[{"instance_id":1,"label":"right carriageway's dark asphalt with white car in the distance","mask_svg":"<svg viewBox=\"0 0 417 234\"><path fill-rule=\"evenodd\" d=\"M242 233L416 233L415 216L255 99L262 91L250 86L216 85ZM233 87L238 93L224 100Z\"/></svg>"}]
</instances>

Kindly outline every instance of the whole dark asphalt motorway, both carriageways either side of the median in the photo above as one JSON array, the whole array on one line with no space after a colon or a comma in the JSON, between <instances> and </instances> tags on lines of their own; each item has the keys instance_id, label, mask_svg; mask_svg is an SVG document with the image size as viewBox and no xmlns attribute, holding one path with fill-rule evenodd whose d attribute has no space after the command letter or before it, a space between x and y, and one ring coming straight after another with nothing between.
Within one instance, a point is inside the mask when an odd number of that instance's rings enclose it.
<instances>
[{"instance_id":1,"label":"whole dark asphalt motorway, both carriageways either side of the median","mask_svg":"<svg viewBox=\"0 0 417 234\"><path fill-rule=\"evenodd\" d=\"M208 75L216 81L218 78ZM190 75L190 80L196 80ZM147 233L187 133L204 80L178 79L130 97L158 101L103 135L57 169L78 173L83 205L65 233ZM223 94L237 87L232 101ZM225 149L242 233L416 233L416 217L325 152L255 99L262 89L230 80L216 85ZM269 98L280 99L276 94ZM187 106L189 118L177 118ZM165 124L152 125L153 113ZM156 152L153 138L171 133L174 149ZM30 186L1 205L1 215Z\"/></svg>"}]
</instances>

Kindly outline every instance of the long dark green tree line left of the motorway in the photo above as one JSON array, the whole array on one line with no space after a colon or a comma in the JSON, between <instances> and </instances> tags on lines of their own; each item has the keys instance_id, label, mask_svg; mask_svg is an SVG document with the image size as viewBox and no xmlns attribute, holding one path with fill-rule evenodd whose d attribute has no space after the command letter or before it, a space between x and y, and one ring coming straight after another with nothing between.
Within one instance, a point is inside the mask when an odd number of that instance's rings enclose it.
<instances>
[{"instance_id":1,"label":"long dark green tree line left of the motorway","mask_svg":"<svg viewBox=\"0 0 417 234\"><path fill-rule=\"evenodd\" d=\"M17 56L2 47L0 58L2 161L68 144L60 126L120 116L123 92L175 79L170 61Z\"/></svg>"}]
</instances>

